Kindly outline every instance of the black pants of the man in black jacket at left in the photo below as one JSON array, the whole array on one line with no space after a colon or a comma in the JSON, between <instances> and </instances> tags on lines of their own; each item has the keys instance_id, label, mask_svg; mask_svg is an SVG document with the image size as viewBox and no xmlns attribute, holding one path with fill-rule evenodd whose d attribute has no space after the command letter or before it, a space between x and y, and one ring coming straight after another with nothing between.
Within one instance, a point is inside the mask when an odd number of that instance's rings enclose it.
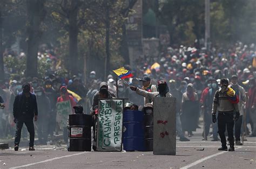
<instances>
[{"instance_id":1,"label":"black pants of the man in black jacket at left","mask_svg":"<svg viewBox=\"0 0 256 169\"><path fill-rule=\"evenodd\" d=\"M19 142L21 141L21 131L22 131L23 123L25 123L26 128L28 129L29 146L32 147L32 146L34 146L34 141L35 141L35 128L34 128L33 118L18 119L18 121L16 123L16 133L15 133L14 145L19 145Z\"/></svg>"}]
</instances>

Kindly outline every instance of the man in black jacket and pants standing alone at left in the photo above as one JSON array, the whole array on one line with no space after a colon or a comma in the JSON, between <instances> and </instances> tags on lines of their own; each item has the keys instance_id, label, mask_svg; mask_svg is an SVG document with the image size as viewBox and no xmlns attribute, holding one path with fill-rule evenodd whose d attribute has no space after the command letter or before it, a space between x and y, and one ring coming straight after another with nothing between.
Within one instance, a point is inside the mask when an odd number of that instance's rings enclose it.
<instances>
[{"instance_id":1,"label":"man in black jacket and pants standing alone at left","mask_svg":"<svg viewBox=\"0 0 256 169\"><path fill-rule=\"evenodd\" d=\"M31 86L29 83L24 83L23 92L15 97L14 101L14 122L16 123L15 133L15 151L19 149L19 142L21 140L21 131L23 123L29 131L30 142L29 150L34 151L35 128L33 118L37 121L37 100L36 95L30 92Z\"/></svg>"}]
</instances>

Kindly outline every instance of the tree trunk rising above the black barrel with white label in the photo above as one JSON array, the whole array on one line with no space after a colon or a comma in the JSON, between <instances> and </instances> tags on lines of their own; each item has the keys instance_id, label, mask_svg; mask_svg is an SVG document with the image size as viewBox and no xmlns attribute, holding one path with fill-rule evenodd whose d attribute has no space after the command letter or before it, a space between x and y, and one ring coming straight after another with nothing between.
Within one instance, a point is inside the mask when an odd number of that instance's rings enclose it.
<instances>
[{"instance_id":1,"label":"tree trunk rising above the black barrel with white label","mask_svg":"<svg viewBox=\"0 0 256 169\"><path fill-rule=\"evenodd\" d=\"M72 1L73 3L74 1ZM74 2L75 3L75 2ZM78 8L69 13L69 58L68 69L72 75L78 73L78 25L77 25Z\"/></svg>"}]
</instances>

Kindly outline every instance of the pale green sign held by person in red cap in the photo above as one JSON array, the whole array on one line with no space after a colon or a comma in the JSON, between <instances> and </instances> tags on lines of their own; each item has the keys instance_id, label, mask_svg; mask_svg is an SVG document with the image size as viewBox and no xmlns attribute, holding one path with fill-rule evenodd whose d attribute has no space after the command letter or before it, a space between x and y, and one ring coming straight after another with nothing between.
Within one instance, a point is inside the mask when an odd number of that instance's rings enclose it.
<instances>
[{"instance_id":1,"label":"pale green sign held by person in red cap","mask_svg":"<svg viewBox=\"0 0 256 169\"><path fill-rule=\"evenodd\" d=\"M65 128L67 126L67 121L69 115L72 114L72 108L70 101L58 102L56 103L57 107L57 122L60 128Z\"/></svg>"}]
</instances>

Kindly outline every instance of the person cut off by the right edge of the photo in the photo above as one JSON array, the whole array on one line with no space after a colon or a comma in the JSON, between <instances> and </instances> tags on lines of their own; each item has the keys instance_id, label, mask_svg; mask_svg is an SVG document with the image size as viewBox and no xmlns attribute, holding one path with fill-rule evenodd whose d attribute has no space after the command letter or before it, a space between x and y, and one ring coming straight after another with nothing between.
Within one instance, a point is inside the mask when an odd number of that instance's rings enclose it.
<instances>
[{"instance_id":1,"label":"person cut off by the right edge of the photo","mask_svg":"<svg viewBox=\"0 0 256 169\"><path fill-rule=\"evenodd\" d=\"M256 83L254 78L250 78L248 82L248 100L246 102L246 112L250 117L250 124L252 128L252 134L250 137L256 137Z\"/></svg>"}]
</instances>

